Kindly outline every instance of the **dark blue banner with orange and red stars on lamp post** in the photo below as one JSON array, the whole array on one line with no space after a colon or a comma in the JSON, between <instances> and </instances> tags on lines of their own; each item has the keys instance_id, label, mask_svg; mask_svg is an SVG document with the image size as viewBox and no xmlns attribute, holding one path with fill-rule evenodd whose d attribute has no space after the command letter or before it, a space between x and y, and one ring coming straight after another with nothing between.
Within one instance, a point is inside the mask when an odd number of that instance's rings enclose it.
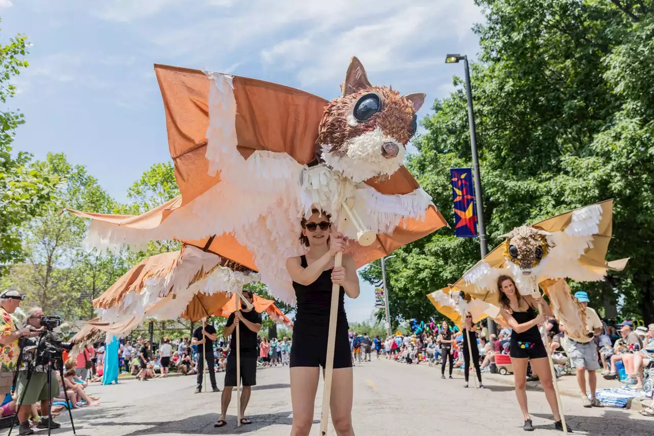
<instances>
[{"instance_id":1,"label":"dark blue banner with orange and red stars on lamp post","mask_svg":"<svg viewBox=\"0 0 654 436\"><path fill-rule=\"evenodd\" d=\"M472 168L450 169L454 200L455 233L460 238L477 237L477 208Z\"/></svg>"}]
</instances>

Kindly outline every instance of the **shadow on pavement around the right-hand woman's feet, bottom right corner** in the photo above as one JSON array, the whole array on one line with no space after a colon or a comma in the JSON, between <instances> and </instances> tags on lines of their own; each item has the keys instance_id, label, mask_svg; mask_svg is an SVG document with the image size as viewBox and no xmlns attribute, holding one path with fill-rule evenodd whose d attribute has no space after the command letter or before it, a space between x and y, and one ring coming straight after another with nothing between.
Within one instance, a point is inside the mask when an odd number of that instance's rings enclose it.
<instances>
[{"instance_id":1,"label":"shadow on pavement around the right-hand woman's feet, bottom right corner","mask_svg":"<svg viewBox=\"0 0 654 436\"><path fill-rule=\"evenodd\" d=\"M554 420L551 414L534 413L538 418L550 420L551 424L534 425L534 428L554 429ZM572 431L584 431L589 435L608 434L611 429L613 434L619 434L628 429L629 436L647 436L654 434L654 420L634 419L634 414L623 409L604 408L601 418L596 416L566 415L566 424Z\"/></svg>"}]
</instances>

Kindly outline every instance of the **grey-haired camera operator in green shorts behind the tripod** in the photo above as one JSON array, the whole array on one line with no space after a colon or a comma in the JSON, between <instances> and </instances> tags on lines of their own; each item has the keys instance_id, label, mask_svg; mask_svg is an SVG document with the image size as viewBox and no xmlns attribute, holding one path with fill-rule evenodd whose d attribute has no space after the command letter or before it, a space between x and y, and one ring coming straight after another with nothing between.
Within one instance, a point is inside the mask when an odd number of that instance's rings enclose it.
<instances>
[{"instance_id":1,"label":"grey-haired camera operator in green shorts behind the tripod","mask_svg":"<svg viewBox=\"0 0 654 436\"><path fill-rule=\"evenodd\" d=\"M27 313L26 327L31 330L31 338L43 333L44 329L41 327L41 317L43 310L39 307L34 307ZM18 429L19 435L31 435L34 433L33 429L29 428L29 414L31 412L31 405L41 401L41 415L43 419L37 425L37 428L48 428L48 412L50 411L50 398L59 395L59 384L57 382L56 372L52 371L52 380L50 390L48 391L48 367L43 363L31 365L31 380L27 380L28 365L26 362L34 362L37 354L37 339L27 339L26 344L22 344L22 363L18 371L18 378L16 379L16 398L21 401L20 409L18 409L18 422L20 428ZM61 424L57 422L50 422L50 428L60 428Z\"/></svg>"}]
</instances>

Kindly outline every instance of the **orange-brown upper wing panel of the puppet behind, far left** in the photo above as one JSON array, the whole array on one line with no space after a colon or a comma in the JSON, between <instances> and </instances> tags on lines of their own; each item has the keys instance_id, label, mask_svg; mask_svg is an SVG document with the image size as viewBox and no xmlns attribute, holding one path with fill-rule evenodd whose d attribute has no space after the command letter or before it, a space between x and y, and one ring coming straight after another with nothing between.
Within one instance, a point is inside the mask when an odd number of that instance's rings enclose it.
<instances>
[{"instance_id":1,"label":"orange-brown upper wing panel of the puppet behind, far left","mask_svg":"<svg viewBox=\"0 0 654 436\"><path fill-rule=\"evenodd\" d=\"M140 292L147 278L165 276L177 264L180 256L181 251L173 251L145 258L94 299L94 307L109 309L122 301L127 293Z\"/></svg>"}]
</instances>

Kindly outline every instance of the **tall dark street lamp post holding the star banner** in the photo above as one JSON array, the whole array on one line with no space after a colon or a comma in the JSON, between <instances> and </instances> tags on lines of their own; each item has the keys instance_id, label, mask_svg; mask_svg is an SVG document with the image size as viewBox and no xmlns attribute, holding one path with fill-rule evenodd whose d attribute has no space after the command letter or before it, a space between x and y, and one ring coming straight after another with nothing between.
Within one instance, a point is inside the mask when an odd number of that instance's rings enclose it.
<instances>
[{"instance_id":1,"label":"tall dark street lamp post holding the star banner","mask_svg":"<svg viewBox=\"0 0 654 436\"><path fill-rule=\"evenodd\" d=\"M481 176L479 175L479 154L477 153L477 133L475 131L475 112L472 109L472 88L470 87L470 66L468 56L460 54L448 54L445 63L458 63L463 60L466 73L466 96L468 97L468 124L470 125L470 150L472 152L472 171L475 176L475 203L477 203L477 229L479 231L479 248L483 259L489 253L488 241L486 238L486 224L484 221L484 208L481 203ZM490 316L487 318L489 334L496 333L495 323Z\"/></svg>"}]
</instances>

